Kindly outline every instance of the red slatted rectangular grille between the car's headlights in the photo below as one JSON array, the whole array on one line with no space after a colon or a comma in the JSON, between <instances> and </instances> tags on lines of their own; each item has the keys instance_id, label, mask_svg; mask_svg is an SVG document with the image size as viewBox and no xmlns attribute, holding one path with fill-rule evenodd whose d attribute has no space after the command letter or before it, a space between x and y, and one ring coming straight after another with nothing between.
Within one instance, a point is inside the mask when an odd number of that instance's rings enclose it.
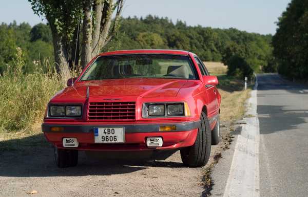
<instances>
[{"instance_id":1,"label":"red slatted rectangular grille between the car's headlights","mask_svg":"<svg viewBox=\"0 0 308 197\"><path fill-rule=\"evenodd\" d=\"M136 102L90 102L89 120L135 120Z\"/></svg>"}]
</instances>

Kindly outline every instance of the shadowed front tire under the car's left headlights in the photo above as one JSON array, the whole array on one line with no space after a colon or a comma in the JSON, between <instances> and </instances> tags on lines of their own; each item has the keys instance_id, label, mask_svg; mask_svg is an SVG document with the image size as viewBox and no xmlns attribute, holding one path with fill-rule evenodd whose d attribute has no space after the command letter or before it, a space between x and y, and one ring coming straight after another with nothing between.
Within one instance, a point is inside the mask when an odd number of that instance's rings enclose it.
<instances>
[{"instance_id":1,"label":"shadowed front tire under the car's left headlights","mask_svg":"<svg viewBox=\"0 0 308 197\"><path fill-rule=\"evenodd\" d=\"M55 164L60 168L76 166L78 164L78 150L54 147L54 160Z\"/></svg>"}]
</instances>

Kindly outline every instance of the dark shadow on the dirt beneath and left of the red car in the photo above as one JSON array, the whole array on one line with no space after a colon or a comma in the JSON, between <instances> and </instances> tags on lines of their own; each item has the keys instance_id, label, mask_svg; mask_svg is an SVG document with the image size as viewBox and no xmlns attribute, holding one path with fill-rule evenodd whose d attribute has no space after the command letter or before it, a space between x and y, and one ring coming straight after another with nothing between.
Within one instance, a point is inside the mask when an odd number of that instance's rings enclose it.
<instances>
[{"instance_id":1,"label":"dark shadow on the dirt beneath and left of the red car","mask_svg":"<svg viewBox=\"0 0 308 197\"><path fill-rule=\"evenodd\" d=\"M98 157L87 156L86 152L79 152L79 164L76 167L57 168L54 163L53 148L48 144L43 134L38 134L18 140L0 142L0 176L2 177L62 177L89 176L130 173L148 167L184 167L180 162L155 161L165 159L173 152L155 153L150 158L142 160L117 158L106 159L100 157L103 152L98 151ZM136 152L136 158L138 152ZM116 155L116 154L115 154ZM132 162L133 161L133 162Z\"/></svg>"}]
</instances>

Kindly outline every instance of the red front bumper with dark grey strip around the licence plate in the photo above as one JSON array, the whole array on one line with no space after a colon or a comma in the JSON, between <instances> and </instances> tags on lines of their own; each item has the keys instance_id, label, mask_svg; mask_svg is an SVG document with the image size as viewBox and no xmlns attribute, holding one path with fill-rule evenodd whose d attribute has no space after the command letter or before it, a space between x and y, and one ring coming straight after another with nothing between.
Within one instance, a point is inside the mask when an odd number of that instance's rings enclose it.
<instances>
[{"instance_id":1,"label":"red front bumper with dark grey strip around the licence plate","mask_svg":"<svg viewBox=\"0 0 308 197\"><path fill-rule=\"evenodd\" d=\"M160 126L175 125L176 130L172 132L159 132ZM52 126L64 127L63 132L51 132ZM93 127L112 127L115 125L67 125L43 123L42 131L46 139L58 148L64 148L63 138L77 138L78 150L152 150L152 149L177 149L191 146L195 143L200 121L183 123L163 123L163 124L134 124L117 125L123 126L125 130L124 144L95 144ZM152 148L147 147L146 138L162 137L163 146Z\"/></svg>"}]
</instances>

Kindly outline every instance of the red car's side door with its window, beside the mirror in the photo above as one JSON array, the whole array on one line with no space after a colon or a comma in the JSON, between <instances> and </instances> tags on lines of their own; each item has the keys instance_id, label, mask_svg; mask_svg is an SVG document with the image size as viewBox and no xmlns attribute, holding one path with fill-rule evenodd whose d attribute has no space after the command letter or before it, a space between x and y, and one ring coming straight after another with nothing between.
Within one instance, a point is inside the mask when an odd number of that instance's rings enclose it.
<instances>
[{"instance_id":1,"label":"red car's side door with its window, beside the mirror","mask_svg":"<svg viewBox=\"0 0 308 197\"><path fill-rule=\"evenodd\" d=\"M197 57L194 57L196 62L198 63L198 67L201 71L202 75L209 75L207 69L205 68L205 65L203 64L203 62ZM206 90L206 95L209 101L208 104L208 116L213 116L215 114L218 113L219 109L218 109L218 90L217 87L215 85L205 85L205 90ZM204 97L206 97L206 95L204 95Z\"/></svg>"}]
</instances>

